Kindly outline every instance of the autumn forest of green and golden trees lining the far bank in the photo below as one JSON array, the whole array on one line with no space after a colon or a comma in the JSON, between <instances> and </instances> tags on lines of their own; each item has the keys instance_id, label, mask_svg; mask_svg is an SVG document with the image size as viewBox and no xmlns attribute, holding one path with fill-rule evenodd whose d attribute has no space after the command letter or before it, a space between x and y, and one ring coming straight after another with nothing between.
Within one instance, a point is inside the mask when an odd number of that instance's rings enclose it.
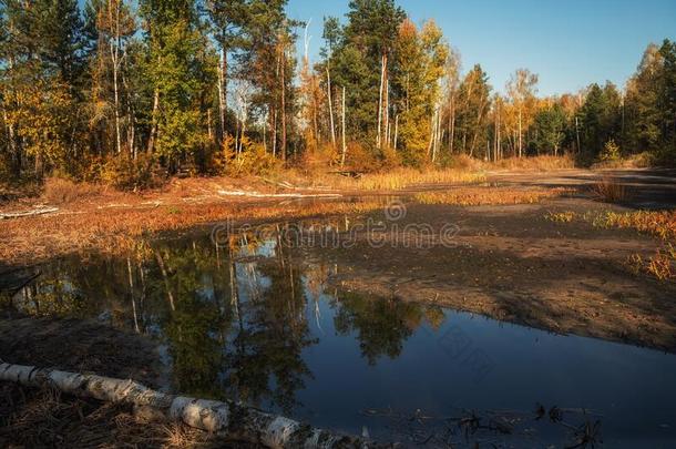
<instances>
[{"instance_id":1,"label":"autumn forest of green and golden trees lining the far bank","mask_svg":"<svg viewBox=\"0 0 676 449\"><path fill-rule=\"evenodd\" d=\"M320 58L287 0L0 2L0 173L119 188L175 175L430 170L571 154L676 157L676 42L626 85L539 96L518 69L491 85L433 20L395 0L324 18ZM501 92L505 92L504 94Z\"/></svg>"}]
</instances>

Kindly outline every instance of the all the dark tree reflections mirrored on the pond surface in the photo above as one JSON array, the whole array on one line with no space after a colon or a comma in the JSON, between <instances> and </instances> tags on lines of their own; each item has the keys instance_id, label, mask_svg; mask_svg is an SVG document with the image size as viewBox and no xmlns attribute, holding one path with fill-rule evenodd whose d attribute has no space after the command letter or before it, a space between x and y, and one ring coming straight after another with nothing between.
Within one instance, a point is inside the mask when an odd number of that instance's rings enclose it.
<instances>
[{"instance_id":1,"label":"all the dark tree reflections mirrored on the pond surface","mask_svg":"<svg viewBox=\"0 0 676 449\"><path fill-rule=\"evenodd\" d=\"M303 248L279 237L285 228L274 231L265 241L233 235L225 247L182 239L122 259L63 259L43 267L14 303L31 315L100 317L160 337L176 390L289 412L311 378L303 351L318 341L308 305L319 327L320 298L338 268L304 263ZM369 364L399 356L423 319L443 322L439 309L393 300L339 295L331 304L336 329L357 334Z\"/></svg>"}]
</instances>

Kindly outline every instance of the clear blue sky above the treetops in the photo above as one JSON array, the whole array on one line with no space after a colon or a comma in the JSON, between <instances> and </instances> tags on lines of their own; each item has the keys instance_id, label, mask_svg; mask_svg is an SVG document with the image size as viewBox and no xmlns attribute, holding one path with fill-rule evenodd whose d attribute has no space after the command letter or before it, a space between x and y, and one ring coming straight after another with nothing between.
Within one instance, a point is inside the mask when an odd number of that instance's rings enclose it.
<instances>
[{"instance_id":1,"label":"clear blue sky above the treetops","mask_svg":"<svg viewBox=\"0 0 676 449\"><path fill-rule=\"evenodd\" d=\"M481 63L494 89L528 68L540 94L577 91L610 80L624 85L649 42L676 39L676 0L399 0L411 19L434 19L462 54L463 69ZM322 18L344 19L348 0L289 0L294 19L311 19L318 58ZM300 42L303 34L299 35ZM300 43L301 44L301 43Z\"/></svg>"}]
</instances>

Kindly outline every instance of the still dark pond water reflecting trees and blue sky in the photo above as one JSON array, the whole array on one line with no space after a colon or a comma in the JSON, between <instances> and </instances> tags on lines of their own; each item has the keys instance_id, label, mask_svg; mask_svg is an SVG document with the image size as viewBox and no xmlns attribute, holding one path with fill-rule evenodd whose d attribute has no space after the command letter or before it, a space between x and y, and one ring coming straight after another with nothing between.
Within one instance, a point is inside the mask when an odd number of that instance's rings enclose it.
<instances>
[{"instance_id":1,"label":"still dark pond water reflecting trees and blue sky","mask_svg":"<svg viewBox=\"0 0 676 449\"><path fill-rule=\"evenodd\" d=\"M278 228L61 259L12 307L148 335L166 388L346 432L428 447L675 447L676 356L342 292L329 255Z\"/></svg>"}]
</instances>

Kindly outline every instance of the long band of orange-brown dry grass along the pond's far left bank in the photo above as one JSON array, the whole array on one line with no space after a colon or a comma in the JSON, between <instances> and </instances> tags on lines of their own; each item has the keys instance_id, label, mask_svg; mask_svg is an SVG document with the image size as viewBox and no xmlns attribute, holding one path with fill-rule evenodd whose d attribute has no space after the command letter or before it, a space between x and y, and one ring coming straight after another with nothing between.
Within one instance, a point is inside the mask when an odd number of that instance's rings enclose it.
<instances>
[{"instance_id":1,"label":"long band of orange-brown dry grass along the pond's far left bank","mask_svg":"<svg viewBox=\"0 0 676 449\"><path fill-rule=\"evenodd\" d=\"M31 263L70 253L96 249L126 254L140 241L161 231L186 231L195 225L256 222L280 217L309 217L361 213L380 207L369 202L246 202L223 198L172 204L82 205L58 214L8 220L0 227L0 261Z\"/></svg>"}]
</instances>

